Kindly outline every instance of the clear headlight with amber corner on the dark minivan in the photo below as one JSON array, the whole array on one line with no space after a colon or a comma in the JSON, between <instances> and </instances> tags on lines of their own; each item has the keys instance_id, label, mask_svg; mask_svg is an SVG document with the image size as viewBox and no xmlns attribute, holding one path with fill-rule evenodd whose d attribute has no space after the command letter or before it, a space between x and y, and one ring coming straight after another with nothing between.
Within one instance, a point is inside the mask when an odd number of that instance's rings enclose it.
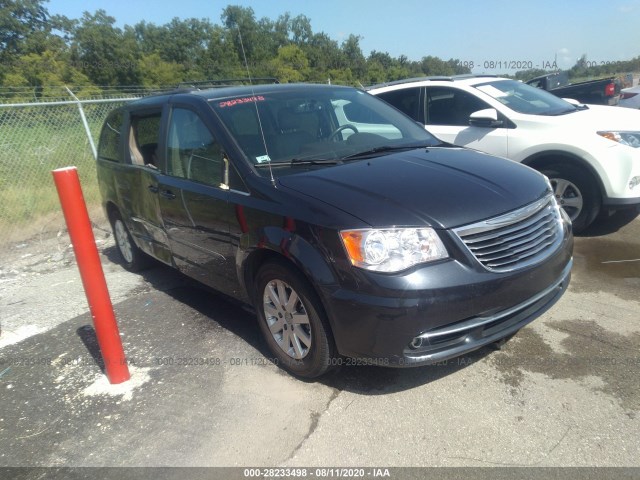
<instances>
[{"instance_id":1,"label":"clear headlight with amber corner on the dark minivan","mask_svg":"<svg viewBox=\"0 0 640 480\"><path fill-rule=\"evenodd\" d=\"M432 228L386 228L340 232L351 263L377 272L399 272L449 254Z\"/></svg>"}]
</instances>

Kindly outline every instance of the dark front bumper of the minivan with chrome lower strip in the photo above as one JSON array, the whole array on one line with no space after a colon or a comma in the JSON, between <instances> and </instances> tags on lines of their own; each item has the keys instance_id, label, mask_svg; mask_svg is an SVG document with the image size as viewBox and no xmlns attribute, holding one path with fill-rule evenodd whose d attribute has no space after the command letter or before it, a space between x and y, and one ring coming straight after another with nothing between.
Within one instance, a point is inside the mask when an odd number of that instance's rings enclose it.
<instances>
[{"instance_id":1,"label":"dark front bumper of the minivan with chrome lower strip","mask_svg":"<svg viewBox=\"0 0 640 480\"><path fill-rule=\"evenodd\" d=\"M420 281L394 297L346 289L324 292L341 355L368 364L427 365L508 337L549 309L571 278L572 242L543 265L505 275L470 270L458 262L414 272ZM435 267L435 268L434 268ZM426 278L425 278L426 277ZM431 284L433 288L425 289ZM329 294L330 298L327 298Z\"/></svg>"}]
</instances>

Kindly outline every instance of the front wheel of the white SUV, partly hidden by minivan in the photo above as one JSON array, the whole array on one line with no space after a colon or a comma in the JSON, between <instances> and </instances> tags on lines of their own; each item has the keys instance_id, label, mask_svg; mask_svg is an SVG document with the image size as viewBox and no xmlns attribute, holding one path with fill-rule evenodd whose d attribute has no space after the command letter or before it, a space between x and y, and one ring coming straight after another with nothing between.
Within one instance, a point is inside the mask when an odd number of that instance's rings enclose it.
<instances>
[{"instance_id":1,"label":"front wheel of the white SUV, partly hidden by minivan","mask_svg":"<svg viewBox=\"0 0 640 480\"><path fill-rule=\"evenodd\" d=\"M591 225L602 203L593 178L573 165L551 165L542 173L549 177L558 204L571 218L573 231L580 233Z\"/></svg>"}]
</instances>

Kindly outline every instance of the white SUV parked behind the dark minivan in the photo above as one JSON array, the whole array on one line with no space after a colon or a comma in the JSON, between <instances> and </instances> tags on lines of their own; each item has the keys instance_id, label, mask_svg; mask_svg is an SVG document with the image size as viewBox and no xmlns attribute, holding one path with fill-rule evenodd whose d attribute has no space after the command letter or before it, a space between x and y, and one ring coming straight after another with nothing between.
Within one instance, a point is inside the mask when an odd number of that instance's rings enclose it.
<instances>
[{"instance_id":1,"label":"white SUV parked behind the dark minivan","mask_svg":"<svg viewBox=\"0 0 640 480\"><path fill-rule=\"evenodd\" d=\"M640 205L640 112L580 105L515 80L465 75L368 89L444 142L522 162L551 180L584 230L601 209Z\"/></svg>"}]
</instances>

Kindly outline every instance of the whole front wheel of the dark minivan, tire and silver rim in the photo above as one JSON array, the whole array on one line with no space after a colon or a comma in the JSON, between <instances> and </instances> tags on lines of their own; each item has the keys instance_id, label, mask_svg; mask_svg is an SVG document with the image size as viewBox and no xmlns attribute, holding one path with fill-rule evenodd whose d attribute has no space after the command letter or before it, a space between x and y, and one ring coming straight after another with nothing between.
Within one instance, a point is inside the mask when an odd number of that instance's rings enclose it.
<instances>
[{"instance_id":1,"label":"whole front wheel of the dark minivan, tire and silver rim","mask_svg":"<svg viewBox=\"0 0 640 480\"><path fill-rule=\"evenodd\" d=\"M336 348L309 282L284 262L270 261L258 271L255 287L258 324L278 365L302 378L326 373Z\"/></svg>"}]
</instances>

